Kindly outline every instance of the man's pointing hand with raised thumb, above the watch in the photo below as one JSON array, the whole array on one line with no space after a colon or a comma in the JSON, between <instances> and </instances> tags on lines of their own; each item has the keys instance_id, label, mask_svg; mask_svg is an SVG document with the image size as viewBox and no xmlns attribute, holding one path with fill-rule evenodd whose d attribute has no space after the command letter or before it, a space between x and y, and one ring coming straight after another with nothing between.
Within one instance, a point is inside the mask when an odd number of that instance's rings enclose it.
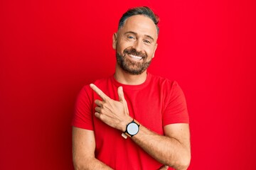
<instances>
[{"instance_id":1,"label":"man's pointing hand with raised thumb, above the watch","mask_svg":"<svg viewBox=\"0 0 256 170\"><path fill-rule=\"evenodd\" d=\"M90 87L102 98L102 101L95 100L97 104L97 107L95 107L95 116L112 128L124 132L127 124L132 122L132 118L129 116L127 101L124 98L122 86L119 86L117 89L119 101L112 100L112 98L104 94L94 84L90 84Z\"/></svg>"}]
</instances>

